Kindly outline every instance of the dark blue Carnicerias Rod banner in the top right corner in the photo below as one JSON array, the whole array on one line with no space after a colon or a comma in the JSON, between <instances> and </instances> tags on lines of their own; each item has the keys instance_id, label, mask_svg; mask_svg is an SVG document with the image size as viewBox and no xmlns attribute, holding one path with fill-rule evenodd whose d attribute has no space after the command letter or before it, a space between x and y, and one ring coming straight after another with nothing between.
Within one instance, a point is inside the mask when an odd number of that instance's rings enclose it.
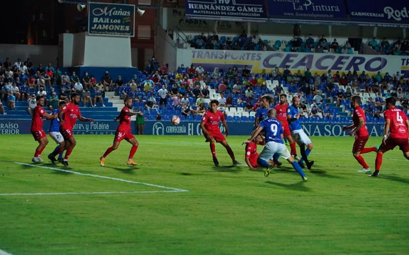
<instances>
[{"instance_id":1,"label":"dark blue Carnicerias Rod banner in the top right corner","mask_svg":"<svg viewBox=\"0 0 409 255\"><path fill-rule=\"evenodd\" d=\"M409 2L347 0L351 23L376 27L409 28Z\"/></svg>"}]
</instances>

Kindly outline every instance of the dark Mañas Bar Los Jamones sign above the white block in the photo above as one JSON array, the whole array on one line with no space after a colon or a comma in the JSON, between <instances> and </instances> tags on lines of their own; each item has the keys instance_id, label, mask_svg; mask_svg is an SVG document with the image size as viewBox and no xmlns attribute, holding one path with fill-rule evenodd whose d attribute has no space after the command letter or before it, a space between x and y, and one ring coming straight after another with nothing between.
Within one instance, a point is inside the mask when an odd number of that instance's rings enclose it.
<instances>
[{"instance_id":1,"label":"dark Ma\u00f1as Bar Los Jamones sign above the white block","mask_svg":"<svg viewBox=\"0 0 409 255\"><path fill-rule=\"evenodd\" d=\"M88 3L90 35L134 36L135 6Z\"/></svg>"}]
</instances>

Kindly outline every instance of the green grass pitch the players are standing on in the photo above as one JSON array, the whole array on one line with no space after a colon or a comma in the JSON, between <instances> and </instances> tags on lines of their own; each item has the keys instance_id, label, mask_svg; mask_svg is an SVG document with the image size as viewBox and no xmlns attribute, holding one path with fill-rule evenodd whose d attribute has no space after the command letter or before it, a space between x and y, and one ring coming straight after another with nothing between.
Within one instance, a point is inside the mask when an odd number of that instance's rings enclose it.
<instances>
[{"instance_id":1,"label":"green grass pitch the players are standing on","mask_svg":"<svg viewBox=\"0 0 409 255\"><path fill-rule=\"evenodd\" d=\"M123 141L101 167L113 135L77 135L64 168L47 160L53 141L33 164L31 135L2 135L0 253L407 254L409 164L398 148L370 178L357 172L353 137L311 137L303 182L287 162L268 177L249 171L246 138L228 137L240 166L217 144L215 167L203 137L137 136L138 166L126 165ZM363 157L374 169L375 153Z\"/></svg>"}]
</instances>

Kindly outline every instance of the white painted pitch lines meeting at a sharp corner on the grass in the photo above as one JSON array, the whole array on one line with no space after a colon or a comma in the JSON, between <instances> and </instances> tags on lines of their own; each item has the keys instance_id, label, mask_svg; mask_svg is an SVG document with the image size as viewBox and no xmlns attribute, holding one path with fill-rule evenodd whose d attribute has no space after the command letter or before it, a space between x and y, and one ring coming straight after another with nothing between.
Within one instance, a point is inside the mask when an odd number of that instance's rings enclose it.
<instances>
[{"instance_id":1,"label":"white painted pitch lines meeting at a sharp corner on the grass","mask_svg":"<svg viewBox=\"0 0 409 255\"><path fill-rule=\"evenodd\" d=\"M18 164L18 165L25 165L25 166L31 166L31 167L50 169L50 170L55 170L55 171L60 171L60 172L65 172L65 173L72 173L72 174L78 174L78 175L83 175L83 176L90 176L90 177L96 177L96 178L101 178L101 179L108 179L108 180L119 181L119 182L124 182L124 183L133 183L133 184L140 184L140 185L156 187L156 188L161 188L161 189L167 189L166 191L135 191L135 192L78 192L78 193L76 193L76 192L66 192L66 193L27 193L27 194L26 193L10 193L10 194L0 194L2 196L5 196L5 195L10 195L10 196L14 195L15 196L15 195L74 195L74 194L127 194L127 193L188 192L188 190L170 188L170 187L165 187L165 186L161 186L161 185L154 185L154 184L149 184L149 183L134 182L134 181L123 180L123 179L118 179L118 178L113 178L113 177L108 177L108 176L103 176L103 175L80 173L80 172L75 172L75 171L70 171L70 170L58 169L58 168L47 167L47 166L39 166L39 165L34 165L34 164L26 164L26 163L21 163L21 162L11 162L11 161L6 161L6 160L0 160L0 161L10 162L10 163ZM2 254L0 254L0 255L2 255Z\"/></svg>"}]
</instances>

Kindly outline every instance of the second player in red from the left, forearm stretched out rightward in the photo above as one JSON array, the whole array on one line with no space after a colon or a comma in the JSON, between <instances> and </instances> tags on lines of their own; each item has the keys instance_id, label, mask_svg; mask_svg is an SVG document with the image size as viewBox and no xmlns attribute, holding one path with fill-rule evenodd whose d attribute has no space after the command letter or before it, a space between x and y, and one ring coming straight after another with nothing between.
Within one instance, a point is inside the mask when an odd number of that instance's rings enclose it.
<instances>
[{"instance_id":1,"label":"second player in red from the left, forearm stretched out rightward","mask_svg":"<svg viewBox=\"0 0 409 255\"><path fill-rule=\"evenodd\" d=\"M75 122L77 122L77 119L79 119L80 121L94 122L94 119L82 117L80 108L78 107L80 95L77 93L72 93L70 98L71 102L66 104L58 113L58 119L60 120L60 133L64 137L64 146L61 146L58 151L54 151L48 156L51 162L55 164L55 162L57 161L55 159L55 156L66 150L65 157L61 161L64 166L70 165L68 163L68 158L70 157L75 145L77 144L77 141L73 136L73 129Z\"/></svg>"}]
</instances>

